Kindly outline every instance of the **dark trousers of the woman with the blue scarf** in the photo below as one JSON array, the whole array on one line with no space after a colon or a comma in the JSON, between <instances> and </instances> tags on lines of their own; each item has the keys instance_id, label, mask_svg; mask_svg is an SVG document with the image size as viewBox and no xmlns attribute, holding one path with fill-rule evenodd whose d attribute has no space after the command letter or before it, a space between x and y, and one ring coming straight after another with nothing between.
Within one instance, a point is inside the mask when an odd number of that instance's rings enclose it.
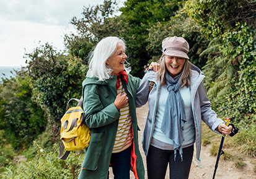
<instances>
[{"instance_id":1,"label":"dark trousers of the woman with the blue scarf","mask_svg":"<svg viewBox=\"0 0 256 179\"><path fill-rule=\"evenodd\" d=\"M176 161L174 161L174 151L150 146L147 156L148 179L164 179L168 162L170 178L187 179L192 163L194 146L183 148L182 151L183 161L180 159L179 151L177 151Z\"/></svg>"}]
</instances>

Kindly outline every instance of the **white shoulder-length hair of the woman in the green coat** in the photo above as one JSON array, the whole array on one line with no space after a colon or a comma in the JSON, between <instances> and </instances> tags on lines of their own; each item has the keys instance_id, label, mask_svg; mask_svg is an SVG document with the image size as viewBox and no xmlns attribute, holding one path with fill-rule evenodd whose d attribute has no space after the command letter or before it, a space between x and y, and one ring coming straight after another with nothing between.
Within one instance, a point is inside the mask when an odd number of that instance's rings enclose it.
<instances>
[{"instance_id":1,"label":"white shoulder-length hair of the woman in the green coat","mask_svg":"<svg viewBox=\"0 0 256 179\"><path fill-rule=\"evenodd\" d=\"M108 67L106 61L110 59L112 54L117 50L117 43L126 49L125 41L116 36L108 36L103 38L95 47L94 51L90 54L89 69L91 70L91 75L99 78L99 81L105 81L112 77L112 69ZM126 68L127 73L130 72L130 68Z\"/></svg>"}]
</instances>

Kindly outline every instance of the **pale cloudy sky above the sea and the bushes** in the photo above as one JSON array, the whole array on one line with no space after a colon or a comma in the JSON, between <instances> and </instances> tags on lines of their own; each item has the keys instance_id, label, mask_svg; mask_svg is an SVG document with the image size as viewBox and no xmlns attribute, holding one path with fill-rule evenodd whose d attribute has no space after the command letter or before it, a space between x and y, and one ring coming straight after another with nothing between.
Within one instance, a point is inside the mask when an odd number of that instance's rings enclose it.
<instances>
[{"instance_id":1,"label":"pale cloudy sky above the sea and the bushes","mask_svg":"<svg viewBox=\"0 0 256 179\"><path fill-rule=\"evenodd\" d=\"M125 0L117 0L123 6ZM63 35L74 30L69 23L81 19L82 8L104 0L0 0L0 66L25 66L25 50L38 43L64 49Z\"/></svg>"}]
</instances>

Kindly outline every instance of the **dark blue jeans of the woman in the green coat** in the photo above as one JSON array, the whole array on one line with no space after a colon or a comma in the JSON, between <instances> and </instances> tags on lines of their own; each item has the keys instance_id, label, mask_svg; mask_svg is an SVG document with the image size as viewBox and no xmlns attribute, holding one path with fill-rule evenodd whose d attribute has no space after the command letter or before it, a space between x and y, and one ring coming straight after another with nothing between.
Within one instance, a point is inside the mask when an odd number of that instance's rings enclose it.
<instances>
[{"instance_id":1,"label":"dark blue jeans of the woman in the green coat","mask_svg":"<svg viewBox=\"0 0 256 179\"><path fill-rule=\"evenodd\" d=\"M110 164L112 166L114 179L130 179L131 148L113 153Z\"/></svg>"}]
</instances>

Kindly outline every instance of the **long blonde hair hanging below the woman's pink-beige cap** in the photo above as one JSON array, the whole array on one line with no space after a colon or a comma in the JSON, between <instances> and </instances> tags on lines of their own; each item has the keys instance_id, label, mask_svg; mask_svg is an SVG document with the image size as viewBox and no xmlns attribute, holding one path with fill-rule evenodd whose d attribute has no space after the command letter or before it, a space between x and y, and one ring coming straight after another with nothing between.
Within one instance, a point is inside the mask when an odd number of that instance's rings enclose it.
<instances>
[{"instance_id":1,"label":"long blonde hair hanging below the woman's pink-beige cap","mask_svg":"<svg viewBox=\"0 0 256 179\"><path fill-rule=\"evenodd\" d=\"M156 79L161 81L161 85L166 86L166 55L162 54L161 58L158 60L158 63L160 64L160 69L157 72ZM191 72L191 62L188 61L188 59L185 59L185 64L183 66L183 71L179 80L179 83L181 85L181 88L183 86L190 86L190 77L192 76Z\"/></svg>"}]
</instances>

